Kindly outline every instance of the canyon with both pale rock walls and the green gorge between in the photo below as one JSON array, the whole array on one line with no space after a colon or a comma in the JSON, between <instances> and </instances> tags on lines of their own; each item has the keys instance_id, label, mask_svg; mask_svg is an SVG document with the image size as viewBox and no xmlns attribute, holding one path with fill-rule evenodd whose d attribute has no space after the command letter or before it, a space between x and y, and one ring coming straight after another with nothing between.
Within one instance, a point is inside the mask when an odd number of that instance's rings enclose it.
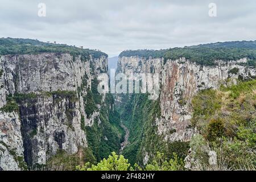
<instances>
[{"instance_id":1,"label":"canyon with both pale rock walls and the green gorge between","mask_svg":"<svg viewBox=\"0 0 256 182\"><path fill-rule=\"evenodd\" d=\"M256 77L250 57L243 55L228 61L214 57L207 65L185 56L166 57L168 50L160 56L124 51L116 73L158 74L158 100L148 100L147 94L100 94L97 76L108 74L108 55L79 48L56 52L63 47L49 46L43 52L1 54L2 170L35 169L61 152L74 158L82 154L75 165L98 162L112 151L141 165L157 151L185 158L198 133L191 124L193 96Z\"/></svg>"}]
</instances>

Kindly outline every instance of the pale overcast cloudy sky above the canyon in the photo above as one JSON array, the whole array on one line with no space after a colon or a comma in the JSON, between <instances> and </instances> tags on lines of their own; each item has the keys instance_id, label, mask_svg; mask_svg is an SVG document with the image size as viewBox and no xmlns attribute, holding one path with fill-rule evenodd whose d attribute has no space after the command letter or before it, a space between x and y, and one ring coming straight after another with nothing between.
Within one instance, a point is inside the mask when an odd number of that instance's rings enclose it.
<instances>
[{"instance_id":1,"label":"pale overcast cloudy sky above the canyon","mask_svg":"<svg viewBox=\"0 0 256 182\"><path fill-rule=\"evenodd\" d=\"M209 16L216 3L217 17ZM256 1L0 0L0 36L56 41L109 56L126 49L161 49L256 40ZM45 3L46 16L38 16Z\"/></svg>"}]
</instances>

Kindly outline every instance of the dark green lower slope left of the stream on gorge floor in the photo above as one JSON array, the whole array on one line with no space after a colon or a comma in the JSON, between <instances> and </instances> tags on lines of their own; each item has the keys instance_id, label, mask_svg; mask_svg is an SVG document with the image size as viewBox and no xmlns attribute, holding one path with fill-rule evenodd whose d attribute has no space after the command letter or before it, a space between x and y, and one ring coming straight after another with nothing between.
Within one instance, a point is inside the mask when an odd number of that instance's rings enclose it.
<instances>
[{"instance_id":1,"label":"dark green lower slope left of the stream on gorge floor","mask_svg":"<svg viewBox=\"0 0 256 182\"><path fill-rule=\"evenodd\" d=\"M92 126L85 126L88 144L97 161L107 158L112 151L118 152L125 135L117 111L112 109L113 104L112 95L106 94L105 104L100 108L100 117L94 119Z\"/></svg>"}]
</instances>

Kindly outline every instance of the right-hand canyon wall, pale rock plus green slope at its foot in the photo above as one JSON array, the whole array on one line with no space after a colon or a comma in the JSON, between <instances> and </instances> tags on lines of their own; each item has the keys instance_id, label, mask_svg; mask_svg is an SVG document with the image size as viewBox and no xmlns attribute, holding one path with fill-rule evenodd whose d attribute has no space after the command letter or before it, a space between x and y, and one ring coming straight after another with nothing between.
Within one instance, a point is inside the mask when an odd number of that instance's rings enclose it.
<instances>
[{"instance_id":1,"label":"right-hand canyon wall, pale rock plus green slope at its foot","mask_svg":"<svg viewBox=\"0 0 256 182\"><path fill-rule=\"evenodd\" d=\"M201 55L191 56L186 54L186 48L180 50L180 57L175 55L176 49L126 51L119 56L118 72L159 74L160 96L157 101L148 101L142 94L117 96L116 104L131 136L123 154L132 162L146 164L156 151L164 151L167 156L177 152L184 158L188 142L196 133L196 128L191 126L192 97L200 90L217 89L256 76L255 62L250 55L233 55L233 49L231 59L229 53L224 53L227 54L225 60L218 59L218 56L224 56L222 53L217 52L216 57L215 49L212 55L207 55L208 60L201 60L205 56L201 52ZM193 52L189 48L188 51ZM165 52L164 55L161 56L161 52ZM233 57L237 59L232 60Z\"/></svg>"}]
</instances>

